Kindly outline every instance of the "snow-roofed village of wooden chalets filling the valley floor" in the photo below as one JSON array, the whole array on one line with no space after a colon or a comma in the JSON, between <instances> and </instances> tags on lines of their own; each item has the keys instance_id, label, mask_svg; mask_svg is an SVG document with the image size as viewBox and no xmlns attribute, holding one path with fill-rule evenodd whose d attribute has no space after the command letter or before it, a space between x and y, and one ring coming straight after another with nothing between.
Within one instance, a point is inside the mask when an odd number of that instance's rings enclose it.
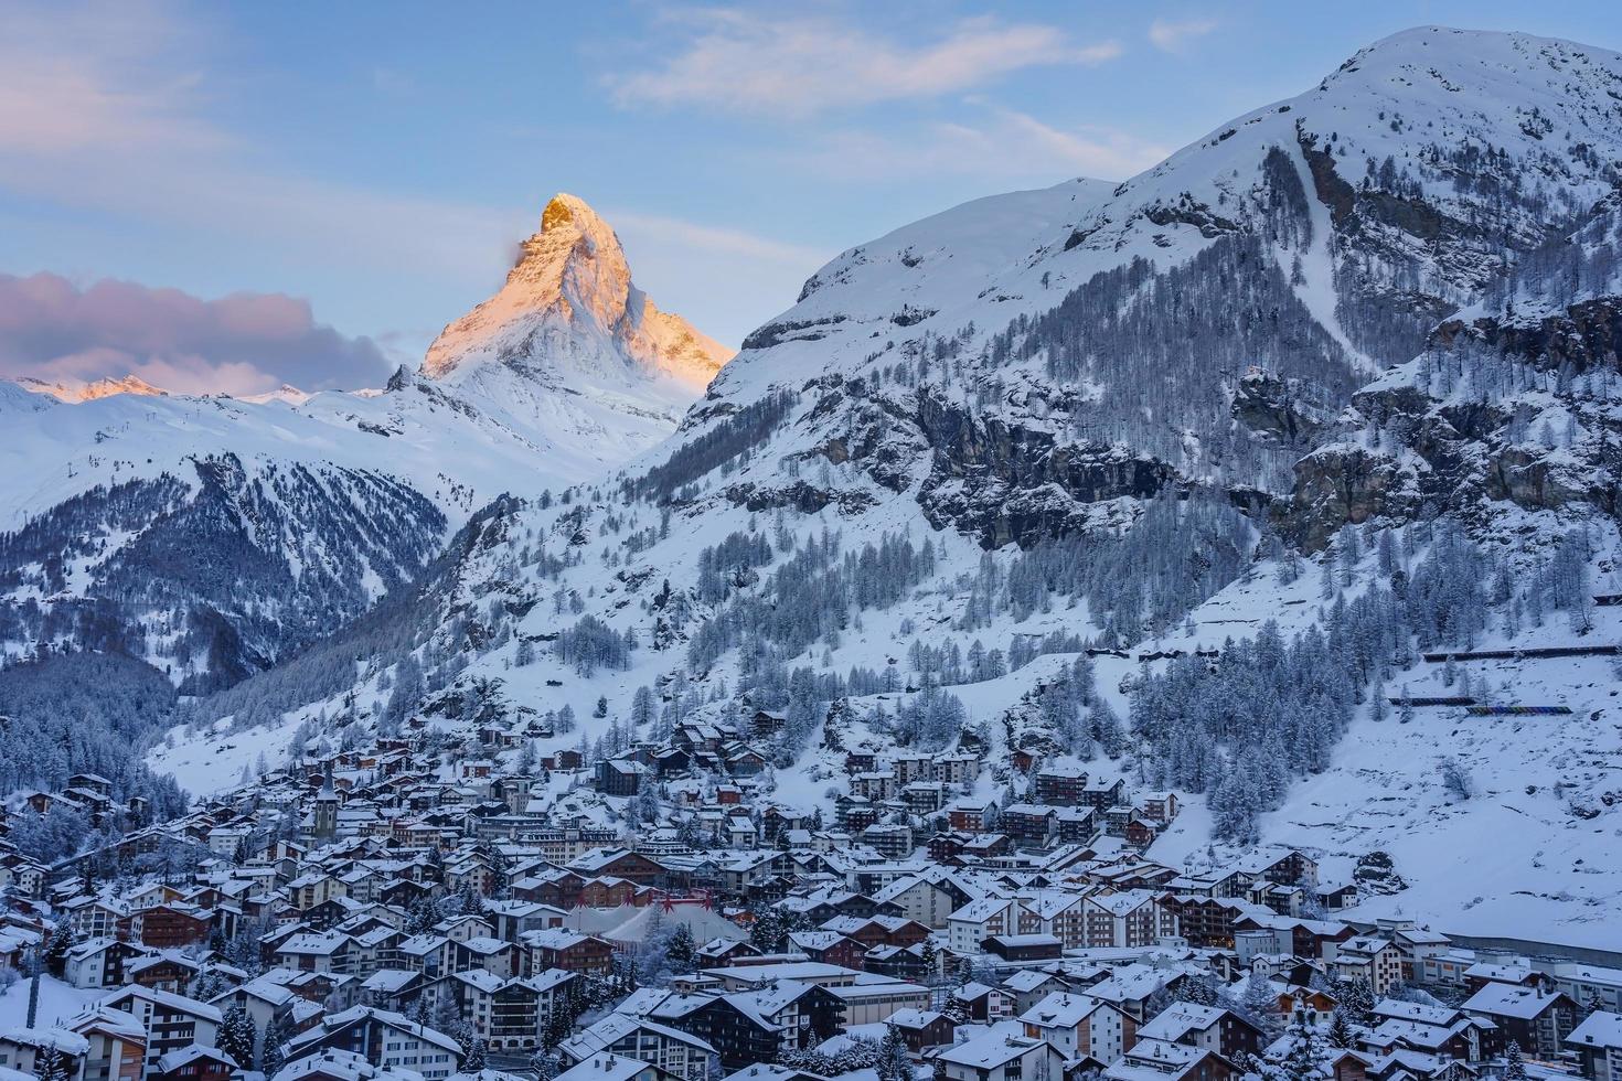
<instances>
[{"instance_id":1,"label":"snow-roofed village of wooden chalets filling the valley floor","mask_svg":"<svg viewBox=\"0 0 1622 1081\"><path fill-rule=\"evenodd\" d=\"M1377 852L1161 865L1176 793L1014 750L976 796L972 729L840 749L824 817L762 791L780 724L587 765L414 718L52 865L0 840L0 1081L1622 1078L1622 969L1358 921ZM5 823L54 807L146 814L76 775Z\"/></svg>"}]
</instances>

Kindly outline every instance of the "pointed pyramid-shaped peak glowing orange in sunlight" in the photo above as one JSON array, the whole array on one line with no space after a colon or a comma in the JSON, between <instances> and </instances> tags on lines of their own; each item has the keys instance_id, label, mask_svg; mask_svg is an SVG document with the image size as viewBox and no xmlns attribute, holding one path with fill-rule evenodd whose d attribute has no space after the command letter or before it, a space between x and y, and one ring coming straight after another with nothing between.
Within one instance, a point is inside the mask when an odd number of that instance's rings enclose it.
<instances>
[{"instance_id":1,"label":"pointed pyramid-shaped peak glowing orange in sunlight","mask_svg":"<svg viewBox=\"0 0 1622 1081\"><path fill-rule=\"evenodd\" d=\"M697 395L732 350L660 311L631 280L613 229L555 194L495 297L428 347L423 374L467 379L490 365L566 391L676 382Z\"/></svg>"}]
</instances>

